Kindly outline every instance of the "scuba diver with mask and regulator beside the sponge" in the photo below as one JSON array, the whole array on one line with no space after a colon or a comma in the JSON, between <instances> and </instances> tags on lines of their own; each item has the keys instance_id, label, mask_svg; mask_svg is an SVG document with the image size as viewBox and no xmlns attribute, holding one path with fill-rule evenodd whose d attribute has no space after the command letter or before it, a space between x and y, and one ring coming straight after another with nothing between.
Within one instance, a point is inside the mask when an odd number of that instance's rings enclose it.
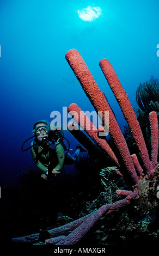
<instances>
[{"instance_id":1,"label":"scuba diver with mask and regulator beside the sponge","mask_svg":"<svg viewBox=\"0 0 159 256\"><path fill-rule=\"evenodd\" d=\"M51 130L50 123L46 120L36 121L33 126L33 134L35 139L29 148L31 148L34 163L43 172L41 178L45 180L47 180L47 175L57 176L60 170L63 169L64 164L74 163L79 152L87 151L81 145L77 145L74 154L70 155L69 149L66 148L63 142L65 138L63 132Z\"/></svg>"}]
</instances>

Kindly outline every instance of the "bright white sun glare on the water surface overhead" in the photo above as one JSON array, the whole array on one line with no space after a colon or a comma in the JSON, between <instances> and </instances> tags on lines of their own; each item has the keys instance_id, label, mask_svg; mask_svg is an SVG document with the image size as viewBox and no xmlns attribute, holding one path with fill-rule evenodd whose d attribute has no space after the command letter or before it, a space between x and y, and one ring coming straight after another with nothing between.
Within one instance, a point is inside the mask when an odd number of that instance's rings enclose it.
<instances>
[{"instance_id":1,"label":"bright white sun glare on the water surface overhead","mask_svg":"<svg viewBox=\"0 0 159 256\"><path fill-rule=\"evenodd\" d=\"M101 15L101 13L102 10L99 7L88 6L87 8L78 10L78 16L83 21L94 21Z\"/></svg>"}]
</instances>

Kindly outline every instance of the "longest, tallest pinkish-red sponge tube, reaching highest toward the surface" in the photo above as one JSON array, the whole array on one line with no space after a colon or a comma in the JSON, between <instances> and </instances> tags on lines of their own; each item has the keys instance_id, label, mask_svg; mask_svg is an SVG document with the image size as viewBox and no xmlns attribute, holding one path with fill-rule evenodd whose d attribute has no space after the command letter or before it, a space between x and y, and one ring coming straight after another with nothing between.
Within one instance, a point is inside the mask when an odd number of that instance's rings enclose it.
<instances>
[{"instance_id":1,"label":"longest, tallest pinkish-red sponge tube, reaching highest toward the surface","mask_svg":"<svg viewBox=\"0 0 159 256\"><path fill-rule=\"evenodd\" d=\"M114 143L119 150L125 169L127 172L129 172L133 179L132 183L137 184L138 176L136 174L136 170L134 169L129 149L127 148L123 133L120 130L117 119L109 106L105 94L103 94L97 86L94 77L91 75L81 54L79 54L77 50L72 49L68 51L65 57L71 66L71 69L74 71L78 81L81 83L85 94L88 96L91 104L94 106L96 112L101 111L101 113L104 115L105 111L109 111L109 135L113 138ZM103 115L100 118L102 123L105 124L105 118Z\"/></svg>"}]
</instances>

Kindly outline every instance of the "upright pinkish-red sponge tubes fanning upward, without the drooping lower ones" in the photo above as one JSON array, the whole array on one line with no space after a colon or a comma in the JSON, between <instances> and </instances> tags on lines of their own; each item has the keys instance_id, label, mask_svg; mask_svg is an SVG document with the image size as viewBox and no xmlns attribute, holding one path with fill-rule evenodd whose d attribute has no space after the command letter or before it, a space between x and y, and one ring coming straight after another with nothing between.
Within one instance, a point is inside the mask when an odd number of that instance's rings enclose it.
<instances>
[{"instance_id":1,"label":"upright pinkish-red sponge tubes fanning upward, without the drooping lower ones","mask_svg":"<svg viewBox=\"0 0 159 256\"><path fill-rule=\"evenodd\" d=\"M127 147L123 133L120 130L117 119L109 105L107 98L104 93L101 92L100 88L97 86L94 77L91 75L87 65L85 64L81 54L75 49L72 49L66 53L66 60L68 61L71 69L74 71L79 83L81 84L85 94L88 96L91 104L94 106L96 112L105 113L109 112L109 135L112 137L116 147L119 150L121 159L124 162L124 167L132 178L132 184L138 183L139 176L142 174L142 168L137 160L136 155L130 155L130 151ZM158 154L158 121L156 112L150 113L150 127L151 127L151 145L152 145L152 157L151 162L148 155L148 150L146 149L145 141L143 138L142 131L140 129L136 114L133 111L128 95L125 93L123 86L121 85L117 74L115 73L111 63L107 59L102 59L100 61L100 67L105 75L109 86L111 87L121 111L129 124L130 130L132 132L133 138L136 142L139 156L142 161L142 166L148 175L154 173L157 164L157 154ZM79 112L81 114L82 109L80 109L75 103L72 103L68 107L70 115L73 115L75 121L82 126L82 128L88 133L88 135L94 139L95 142L100 144L100 147L105 150L105 152L111 157L114 163L120 167L117 157L113 153L112 149L109 147L106 141L102 139L99 142L97 138L97 132L95 129L88 131L85 126L80 123ZM76 115L76 113L78 113ZM86 120L88 119L85 116ZM101 121L103 124L107 120L102 115ZM83 119L82 119L83 120ZM86 122L85 122L86 123ZM92 125L93 126L93 125ZM97 129L96 129L97 130ZM139 174L139 176L138 176Z\"/></svg>"}]
</instances>

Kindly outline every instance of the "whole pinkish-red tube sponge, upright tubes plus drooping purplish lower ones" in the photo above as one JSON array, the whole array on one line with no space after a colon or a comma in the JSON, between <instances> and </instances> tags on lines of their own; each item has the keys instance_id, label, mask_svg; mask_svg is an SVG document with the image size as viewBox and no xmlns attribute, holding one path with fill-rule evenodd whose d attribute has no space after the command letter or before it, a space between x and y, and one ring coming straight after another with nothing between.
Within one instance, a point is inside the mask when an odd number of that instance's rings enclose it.
<instances>
[{"instance_id":1,"label":"whole pinkish-red tube sponge, upright tubes plus drooping purplish lower ones","mask_svg":"<svg viewBox=\"0 0 159 256\"><path fill-rule=\"evenodd\" d=\"M142 131L140 130L140 126L138 124L136 115L133 112L133 108L128 99L128 96L125 93L125 90L121 86L121 83L117 77L117 74L112 68L112 65L108 62L107 59L103 59L100 62L101 69L107 78L108 84L113 90L115 97L117 97L117 101L120 105L121 111L123 111L127 123L130 126L130 130L132 135L136 141L140 161L139 163L137 156L131 156L130 151L127 147L126 141L124 139L123 133L120 130L120 127L117 123L117 119L112 111L111 106L106 99L105 94L101 92L99 87L97 86L94 77L91 75L87 65L82 59L81 55L76 50L70 50L66 53L66 60L68 61L71 69L74 71L78 81L81 83L81 86L88 96L90 102L94 106L96 112L100 112L100 118L102 124L105 125L105 111L109 111L109 135L113 139L115 146L117 147L120 155L120 161L118 161L117 156L113 153L112 149L108 147L106 141L101 141L97 137L97 129L93 129L93 125L91 124L90 130L86 129L84 123L81 123L79 118L79 113L82 113L82 110L75 104L72 103L68 111L72 118L82 126L83 129L88 133L88 135L93 139L98 147L101 150L105 151L105 153L109 154L109 156L113 159L113 161L117 164L120 172L120 175L123 175L124 179L128 182L130 190L117 190L117 194L126 196L125 199L119 200L112 204L105 204L101 206L98 210L92 212L91 214L84 216L83 218L71 222L69 224L64 225L63 227L59 227L53 230L48 230L51 234L56 237L46 240L47 244L51 245L75 245L87 232L93 227L97 220L102 215L108 215L114 210L117 210L127 204L135 198L144 199L148 196L148 190L150 189L150 180L156 179L155 176L155 167L157 167L157 153L158 153L158 144L156 143L156 139L158 140L158 125L157 124L157 115L152 112L150 114L150 126L151 126L151 135L152 135L152 162L149 160L149 156L146 150L145 142L143 139ZM82 113L83 114L83 113ZM88 120L87 116L84 114L84 119ZM87 145L85 145L87 148ZM143 174L144 173L144 174ZM153 178L154 176L154 178ZM129 178L129 179L127 179ZM155 181L154 181L155 182ZM142 188L144 187L144 192ZM154 189L154 187L153 187ZM151 187L152 190L152 187ZM156 190L155 190L156 191ZM148 198L146 198L147 200ZM144 204L146 205L146 200ZM143 203L143 202L142 202ZM68 231L73 230L68 236L64 236ZM33 241L37 238L37 234L30 235L27 237L19 237L13 239L15 242L26 242Z\"/></svg>"}]
</instances>

